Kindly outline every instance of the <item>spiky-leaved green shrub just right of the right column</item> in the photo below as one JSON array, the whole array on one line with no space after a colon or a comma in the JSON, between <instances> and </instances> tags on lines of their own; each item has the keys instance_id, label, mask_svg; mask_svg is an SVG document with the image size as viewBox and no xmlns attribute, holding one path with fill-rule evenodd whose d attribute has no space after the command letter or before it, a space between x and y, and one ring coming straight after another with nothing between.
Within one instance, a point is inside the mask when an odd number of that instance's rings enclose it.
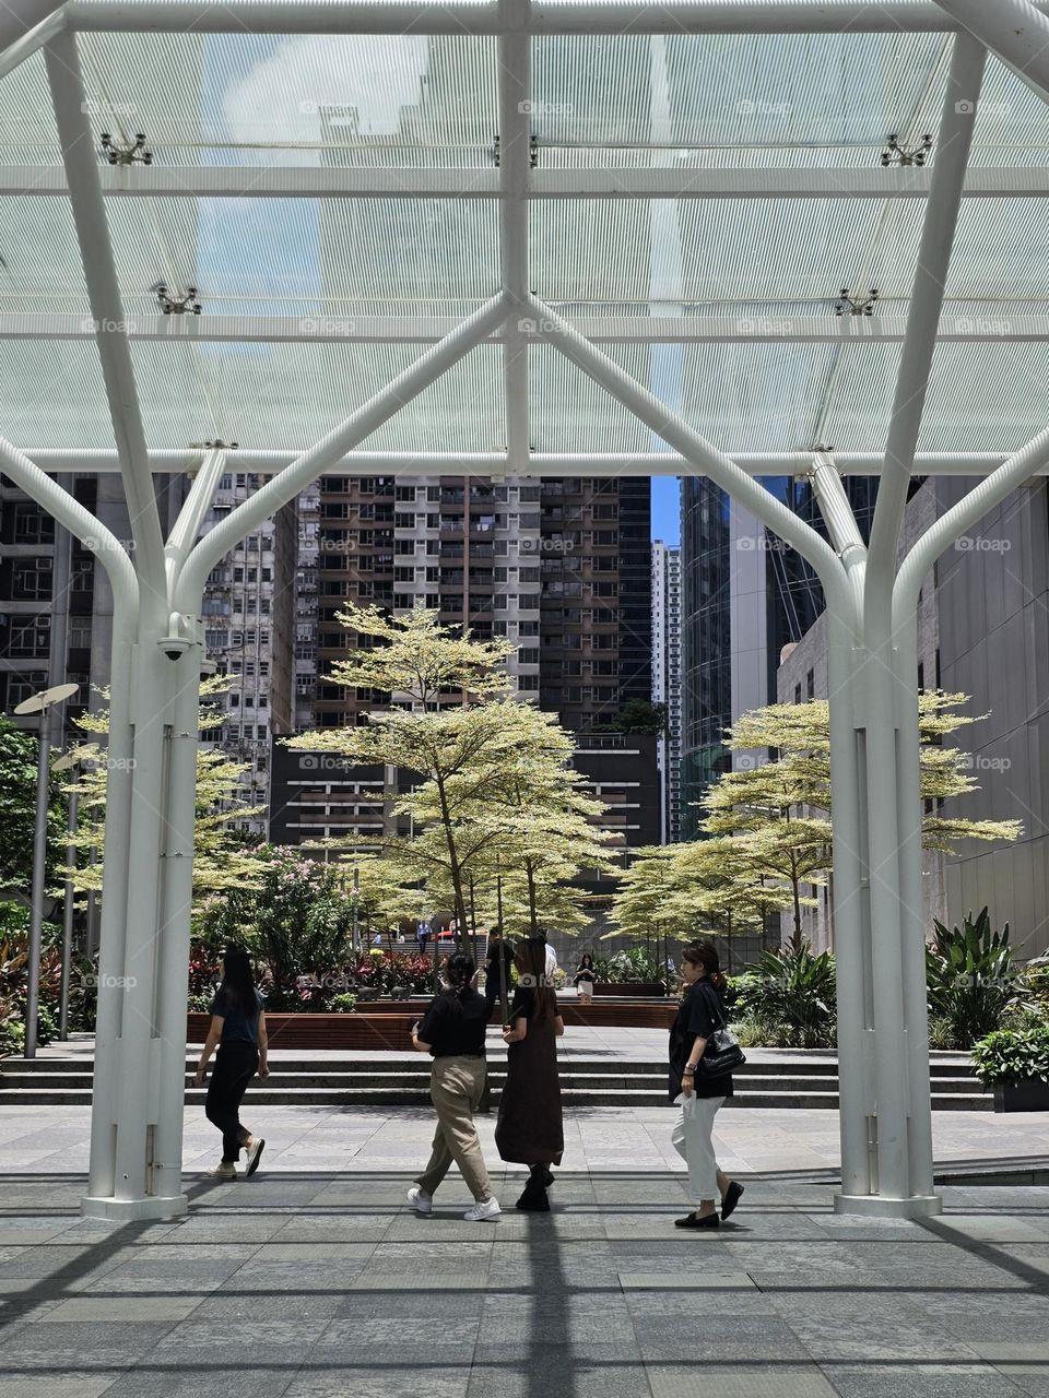
<instances>
[{"instance_id":1,"label":"spiky-leaved green shrub just right of the right column","mask_svg":"<svg viewBox=\"0 0 1049 1398\"><path fill-rule=\"evenodd\" d=\"M947 1047L971 1048L999 1029L1010 1005L1022 998L1008 923L1001 932L992 931L985 907L975 923L969 913L961 927L934 927L926 948L929 1015L950 1025Z\"/></svg>"}]
</instances>

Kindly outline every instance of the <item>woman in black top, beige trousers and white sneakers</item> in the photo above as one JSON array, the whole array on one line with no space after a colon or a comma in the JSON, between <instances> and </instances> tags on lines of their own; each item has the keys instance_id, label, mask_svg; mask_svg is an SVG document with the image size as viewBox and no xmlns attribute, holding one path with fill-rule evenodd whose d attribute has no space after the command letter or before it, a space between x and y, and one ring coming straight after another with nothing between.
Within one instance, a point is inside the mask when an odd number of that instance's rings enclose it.
<instances>
[{"instance_id":1,"label":"woman in black top, beige trousers and white sneakers","mask_svg":"<svg viewBox=\"0 0 1049 1398\"><path fill-rule=\"evenodd\" d=\"M463 1218L478 1223L498 1218L501 1209L474 1125L474 1111L484 1090L488 1023L484 995L473 988L474 969L473 956L453 952L446 967L448 990L431 1001L422 1021L411 1030L413 1047L434 1058L429 1095L438 1125L429 1165L408 1190L408 1204L417 1213L432 1213L434 1194L455 1162L474 1197L473 1208Z\"/></svg>"}]
</instances>

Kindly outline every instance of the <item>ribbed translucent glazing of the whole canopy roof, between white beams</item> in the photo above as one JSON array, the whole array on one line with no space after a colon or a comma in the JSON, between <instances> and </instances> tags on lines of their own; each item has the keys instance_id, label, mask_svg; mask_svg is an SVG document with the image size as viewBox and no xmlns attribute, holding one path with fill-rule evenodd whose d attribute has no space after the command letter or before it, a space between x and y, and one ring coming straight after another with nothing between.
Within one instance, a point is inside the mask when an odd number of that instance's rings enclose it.
<instances>
[{"instance_id":1,"label":"ribbed translucent glazing of the whole canopy roof, between white beams","mask_svg":"<svg viewBox=\"0 0 1049 1398\"><path fill-rule=\"evenodd\" d=\"M469 36L85 34L92 131L147 134L158 168L404 171L404 197L109 199L129 317L157 315L159 281L200 288L204 316L462 317L501 282L495 199L415 199L414 169L470 180L497 168L497 42ZM944 34L548 36L533 41L538 171L880 171L890 134L936 133ZM0 80L0 165L32 187L60 150L35 55ZM1045 168L1049 106L990 60L973 168ZM99 155L101 158L101 155ZM936 162L933 148L930 164ZM245 173L248 172L248 173ZM443 178L443 176L442 176ZM8 187L10 180L8 180ZM573 192L575 193L575 192ZM726 450L884 445L898 344L807 343L835 324L841 287L906 315L919 199L536 199L530 285L572 316L780 316L768 344L608 348ZM71 210L0 199L0 315L85 315ZM1049 301L1042 199L968 199L945 315L1001 323ZM308 331L306 331L308 333ZM137 340L150 440L309 445L418 354L413 344ZM923 450L1006 450L1039 426L1045 343L941 344ZM547 347L529 351L537 450L657 449ZM24 446L110 446L90 340L0 340L18 384L6 432ZM62 384L63 407L52 386ZM410 404L376 449L502 450L504 354L485 345Z\"/></svg>"}]
</instances>

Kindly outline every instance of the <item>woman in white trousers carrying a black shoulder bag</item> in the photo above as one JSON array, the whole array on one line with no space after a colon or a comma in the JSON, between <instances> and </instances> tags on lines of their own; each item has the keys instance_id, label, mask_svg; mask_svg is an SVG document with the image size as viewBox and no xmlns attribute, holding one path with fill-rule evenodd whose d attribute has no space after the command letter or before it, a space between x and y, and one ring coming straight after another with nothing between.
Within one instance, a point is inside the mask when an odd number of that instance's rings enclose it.
<instances>
[{"instance_id":1,"label":"woman in white trousers carrying a black shoulder bag","mask_svg":"<svg viewBox=\"0 0 1049 1398\"><path fill-rule=\"evenodd\" d=\"M674 1223L677 1227L718 1227L715 1195L722 1199L720 1218L727 1219L740 1202L743 1186L718 1167L712 1141L718 1109L733 1095L732 1074L705 1078L697 1067L708 1039L725 1022L725 976L713 942L685 946L681 979L685 994L670 1030L670 1100L681 1103L681 1116L671 1139L688 1165L688 1184L698 1208Z\"/></svg>"}]
</instances>

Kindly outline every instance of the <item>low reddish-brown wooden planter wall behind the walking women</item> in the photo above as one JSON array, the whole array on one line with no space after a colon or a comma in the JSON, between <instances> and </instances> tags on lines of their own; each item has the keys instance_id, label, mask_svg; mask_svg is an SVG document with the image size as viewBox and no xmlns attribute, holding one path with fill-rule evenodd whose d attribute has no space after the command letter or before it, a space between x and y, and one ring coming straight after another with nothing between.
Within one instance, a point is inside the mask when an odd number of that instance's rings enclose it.
<instances>
[{"instance_id":1,"label":"low reddish-brown wooden planter wall behind the walking women","mask_svg":"<svg viewBox=\"0 0 1049 1398\"><path fill-rule=\"evenodd\" d=\"M274 1009L266 1014L266 1030L271 1048L390 1048L404 1053L411 1047L410 1029L428 1004L428 998L385 1001L369 1004L351 1015L295 1015ZM566 1025L669 1029L677 1014L677 1004L669 1000L604 1005L559 1001L558 1011ZM187 1015L189 1043L203 1043L208 1023L208 1015Z\"/></svg>"}]
</instances>

